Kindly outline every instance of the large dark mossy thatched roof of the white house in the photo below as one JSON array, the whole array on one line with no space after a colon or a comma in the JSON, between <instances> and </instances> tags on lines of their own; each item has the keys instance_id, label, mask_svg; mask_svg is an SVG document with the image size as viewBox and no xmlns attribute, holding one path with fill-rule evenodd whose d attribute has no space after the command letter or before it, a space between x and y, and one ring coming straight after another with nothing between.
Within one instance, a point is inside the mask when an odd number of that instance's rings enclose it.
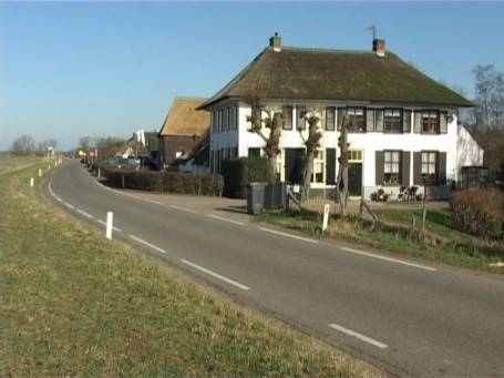
<instances>
[{"instance_id":1,"label":"large dark mossy thatched roof of the white house","mask_svg":"<svg viewBox=\"0 0 504 378\"><path fill-rule=\"evenodd\" d=\"M472 106L390 51L266 48L198 109L226 98L397 102Z\"/></svg>"}]
</instances>

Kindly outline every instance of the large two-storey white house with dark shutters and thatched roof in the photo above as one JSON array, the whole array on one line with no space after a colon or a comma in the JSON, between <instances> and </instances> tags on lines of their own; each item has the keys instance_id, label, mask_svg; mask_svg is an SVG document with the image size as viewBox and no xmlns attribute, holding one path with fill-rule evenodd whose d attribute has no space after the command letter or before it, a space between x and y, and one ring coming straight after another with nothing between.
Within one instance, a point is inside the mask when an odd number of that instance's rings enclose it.
<instances>
[{"instance_id":1,"label":"large two-storey white house with dark shutters and thatched roof","mask_svg":"<svg viewBox=\"0 0 504 378\"><path fill-rule=\"evenodd\" d=\"M271 37L269 47L199 106L212 113L212 172L227 157L264 154L265 141L249 131L253 98L282 114L281 181L300 180L308 134L304 111L320 119L322 132L312 190L335 185L343 115L350 122L352 196L369 198L380 187L394 195L413 185L422 192L428 184L428 196L442 197L463 165L482 164L481 149L457 125L459 109L472 103L385 51L383 40L374 40L372 51L342 51L286 48L278 34Z\"/></svg>"}]
</instances>

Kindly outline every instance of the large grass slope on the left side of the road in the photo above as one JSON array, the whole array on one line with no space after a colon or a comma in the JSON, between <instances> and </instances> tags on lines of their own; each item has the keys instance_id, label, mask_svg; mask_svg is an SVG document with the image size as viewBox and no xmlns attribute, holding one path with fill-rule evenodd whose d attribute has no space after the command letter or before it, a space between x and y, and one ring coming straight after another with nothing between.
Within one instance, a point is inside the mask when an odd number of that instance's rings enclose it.
<instances>
[{"instance_id":1,"label":"large grass slope on the left side of the road","mask_svg":"<svg viewBox=\"0 0 504 378\"><path fill-rule=\"evenodd\" d=\"M23 162L19 162L23 164ZM0 178L0 376L378 376Z\"/></svg>"}]
</instances>

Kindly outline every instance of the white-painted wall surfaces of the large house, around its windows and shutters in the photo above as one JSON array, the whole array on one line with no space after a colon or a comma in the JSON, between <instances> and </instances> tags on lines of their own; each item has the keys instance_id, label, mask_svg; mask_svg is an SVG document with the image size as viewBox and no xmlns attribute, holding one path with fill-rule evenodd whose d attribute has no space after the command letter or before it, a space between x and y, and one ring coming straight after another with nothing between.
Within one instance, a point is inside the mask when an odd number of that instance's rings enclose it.
<instances>
[{"instance_id":1,"label":"white-painted wall surfaces of the large house, around its windows and shutters","mask_svg":"<svg viewBox=\"0 0 504 378\"><path fill-rule=\"evenodd\" d=\"M308 136L308 127L301 133L297 130L297 103L276 103L268 102L267 109L274 112L281 112L282 105L292 105L292 130L282 130L280 137L280 149L297 149L304 147L304 137ZM250 123L248 118L250 116L250 106L245 102L227 101L214 105L213 110L225 109L227 106L237 105L237 130L212 133L210 136L210 151L217 151L222 149L237 147L238 156L248 156L248 149L250 147L263 147L265 141L248 130ZM307 105L308 111L312 111L315 115L322 118L322 109L326 106L344 106L341 103L323 103L323 104L300 104ZM388 108L388 106L384 106ZM391 106L397 108L397 105ZM410 152L410 183L413 185L413 153L421 151L436 151L446 153L446 181L456 181L460 176L460 170L462 165L481 165L483 160L483 152L477 146L475 141L469 134L469 132L457 126L457 119L453 110L445 110L450 112L448 118L446 133L440 134L422 134L414 132L414 114L415 112L422 111L422 109L412 109L411 112L411 131L407 133L387 133L387 132L364 132L364 133L349 133L348 141L350 143L350 150L360 150L362 152L362 194L364 198L369 198L371 193L376 192L382 185L377 185L376 177L376 152L377 151L407 151ZM266 114L265 114L266 115ZM335 111L336 124L338 124L338 112ZM214 121L214 118L213 118ZM216 120L218 121L218 120ZM263 133L267 137L269 130L263 127ZM302 135L302 136L301 136ZM337 149L338 150L338 137L340 133L338 131L322 131L322 139L320 140L320 149ZM278 166L281 166L281 180L284 177L284 153L279 156ZM336 164L336 172L338 170L338 163ZM312 187L325 187L325 184L312 184ZM391 194L392 197L399 193L400 185L383 187L387 193ZM420 188L420 193L423 188Z\"/></svg>"}]
</instances>

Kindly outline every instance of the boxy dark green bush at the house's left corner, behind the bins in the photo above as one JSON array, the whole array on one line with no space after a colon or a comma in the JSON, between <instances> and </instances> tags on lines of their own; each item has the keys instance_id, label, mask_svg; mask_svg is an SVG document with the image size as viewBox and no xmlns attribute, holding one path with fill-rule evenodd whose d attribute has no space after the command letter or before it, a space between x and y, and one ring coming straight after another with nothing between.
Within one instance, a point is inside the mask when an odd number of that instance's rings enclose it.
<instances>
[{"instance_id":1,"label":"boxy dark green bush at the house's left corner, behind the bins","mask_svg":"<svg viewBox=\"0 0 504 378\"><path fill-rule=\"evenodd\" d=\"M274 182L275 176L266 159L228 159L223 162L224 195L245 198L253 182Z\"/></svg>"}]
</instances>

